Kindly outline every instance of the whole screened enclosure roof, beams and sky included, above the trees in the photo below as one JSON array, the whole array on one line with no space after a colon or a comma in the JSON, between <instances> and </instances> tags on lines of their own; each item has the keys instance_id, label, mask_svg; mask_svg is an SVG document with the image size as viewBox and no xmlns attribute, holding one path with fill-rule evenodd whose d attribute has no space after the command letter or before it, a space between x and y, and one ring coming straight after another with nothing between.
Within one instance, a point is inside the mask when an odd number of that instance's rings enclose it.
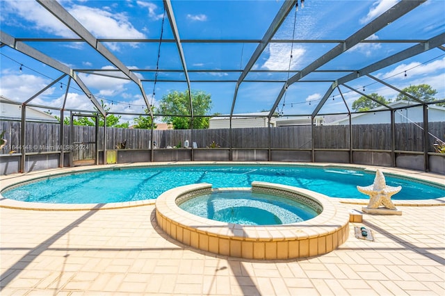
<instances>
[{"instance_id":1,"label":"whole screened enclosure roof, beams and sky included, above the trees","mask_svg":"<svg viewBox=\"0 0 445 296\"><path fill-rule=\"evenodd\" d=\"M337 83L348 108L422 83L444 99L445 4L423 2L0 1L0 94L23 102L66 74L35 101L62 106L71 76L67 106L122 118L189 88L211 94L208 115L348 112Z\"/></svg>"}]
</instances>

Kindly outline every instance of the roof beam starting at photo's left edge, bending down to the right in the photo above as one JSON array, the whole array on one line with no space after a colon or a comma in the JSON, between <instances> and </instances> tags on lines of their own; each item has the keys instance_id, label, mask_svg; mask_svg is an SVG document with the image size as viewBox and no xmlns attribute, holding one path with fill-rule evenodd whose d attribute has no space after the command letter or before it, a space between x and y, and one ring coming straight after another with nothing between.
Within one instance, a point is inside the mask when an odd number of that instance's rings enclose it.
<instances>
[{"instance_id":1,"label":"roof beam starting at photo's left edge, bending down to the right","mask_svg":"<svg viewBox=\"0 0 445 296\"><path fill-rule=\"evenodd\" d=\"M25 44L24 42L16 41L13 36L10 36L3 31L0 31L0 42L3 44L8 45L8 47L11 47L22 54L26 54L26 56L30 56L31 58L38 60L41 63L44 63L45 65L49 65L50 67L53 67L54 69L57 69L60 72L63 72L67 75L70 75L70 77L76 81L77 85L82 89L82 91L88 96L92 104L95 105L97 110L105 116L105 110L102 108L102 105L99 104L99 101L95 98L95 96L88 90L86 85L83 83L83 81L80 79L79 76L77 76L70 67L67 67L66 65L63 65L62 63L58 62L57 60L54 60L54 58L50 58L49 56L42 54L40 51L34 49L33 47L30 47L29 45Z\"/></svg>"}]
</instances>

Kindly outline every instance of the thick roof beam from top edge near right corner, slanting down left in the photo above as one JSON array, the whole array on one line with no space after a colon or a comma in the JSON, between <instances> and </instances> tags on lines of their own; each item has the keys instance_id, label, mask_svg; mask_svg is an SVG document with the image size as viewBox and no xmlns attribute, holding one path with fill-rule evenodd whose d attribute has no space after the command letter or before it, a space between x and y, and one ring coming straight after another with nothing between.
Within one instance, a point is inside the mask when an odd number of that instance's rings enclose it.
<instances>
[{"instance_id":1,"label":"thick roof beam from top edge near right corner, slanting down left","mask_svg":"<svg viewBox=\"0 0 445 296\"><path fill-rule=\"evenodd\" d=\"M348 49L351 49L362 40L369 38L369 36L380 31L380 29L385 28L385 26L387 26L391 22L394 22L396 19L402 17L406 13L409 13L411 10L421 5L421 3L425 1L426 0L400 1L396 3L396 5L389 8L389 10L385 11L385 13L382 13L382 15L376 17L375 19L373 19L373 21L369 22L369 24L366 24L366 26L360 28L359 31L353 33L353 35L350 35L350 37L348 37L343 44L338 44L330 51L327 51L326 54L324 54L323 56L315 60L313 63L305 67L305 69L302 69L302 71L299 74L296 74L291 78L289 78L287 83L284 83L282 90L280 91L280 94L275 100L273 107L270 109L268 117L269 118L272 117L273 113L275 112L275 109L277 108L278 104L282 99L282 96L284 95L285 90L289 87L289 85L302 79L307 74L312 73L315 69L318 69L319 67L330 62L330 60L337 58L337 56L343 54Z\"/></svg>"}]
</instances>

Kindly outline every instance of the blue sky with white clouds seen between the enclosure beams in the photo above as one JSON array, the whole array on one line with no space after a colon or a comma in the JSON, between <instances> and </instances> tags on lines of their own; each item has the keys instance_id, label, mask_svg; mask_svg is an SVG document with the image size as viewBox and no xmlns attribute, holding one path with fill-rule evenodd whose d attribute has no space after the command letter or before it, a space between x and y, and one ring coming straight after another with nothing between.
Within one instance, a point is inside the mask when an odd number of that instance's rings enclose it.
<instances>
[{"instance_id":1,"label":"blue sky with white clouds seen between the enclosure beams","mask_svg":"<svg viewBox=\"0 0 445 296\"><path fill-rule=\"evenodd\" d=\"M162 1L59 1L59 3L85 26L96 38L159 39L163 18ZM362 26L371 22L397 1L321 1L307 0L305 8L296 13L295 40L344 40ZM260 40L282 6L282 0L262 1L172 1L179 36L181 40ZM0 1L1 30L15 38L77 38L65 25L42 8L35 1ZM445 32L445 1L430 0L421 4L371 35L372 40L426 40ZM273 39L291 39L293 35L295 11L278 29ZM163 38L172 39L172 31L167 17L163 24ZM111 63L97 54L83 42L26 42L47 56L72 69L114 69ZM366 43L357 44L352 49L334 58L320 69L342 70L360 69L417 44L416 42ZM104 45L124 65L130 69L155 69L159 44L104 42ZM244 69L257 43L188 43L183 44L186 65L189 70L198 69ZM337 43L295 43L290 69L302 69ZM25 101L33 94L61 75L55 69L21 54L9 47L0 49L0 94L15 101ZM280 69L282 73L250 73L246 79L287 79L290 43L271 43L257 60L252 69ZM19 70L22 65L22 71ZM175 43L164 42L159 58L160 69L181 69L181 60ZM406 73L406 75L405 75ZM140 79L152 79L152 72L137 72ZM338 79L348 72L313 73L304 80ZM193 90L209 92L213 101L211 113L227 114L232 107L235 83L239 72L191 72L192 80L212 80L211 83L192 82ZM438 92L437 98L445 98L445 51L432 49L423 54L403 60L378 72L372 73L379 79L397 88L427 83ZM103 99L111 111L141 113L144 101L136 83L124 79L111 79L105 76L79 73L97 99ZM184 79L184 74L159 72L161 79ZM270 110L283 83L243 82L238 90L234 113L259 112ZM312 113L330 82L304 83L291 85L278 106L286 115ZM348 83L366 94L378 92L387 99L394 99L397 92L385 85L375 83L368 77L361 77ZM67 86L67 78L54 85L38 98L35 104L60 107ZM143 88L156 106L159 100L171 90L186 90L186 83L143 82ZM350 107L359 94L341 88ZM339 93L334 91L334 97ZM311 104L309 104L309 102ZM92 110L92 104L77 85L71 85L67 108ZM340 99L328 100L322 111L341 113L346 111ZM124 115L123 120L133 116Z\"/></svg>"}]
</instances>

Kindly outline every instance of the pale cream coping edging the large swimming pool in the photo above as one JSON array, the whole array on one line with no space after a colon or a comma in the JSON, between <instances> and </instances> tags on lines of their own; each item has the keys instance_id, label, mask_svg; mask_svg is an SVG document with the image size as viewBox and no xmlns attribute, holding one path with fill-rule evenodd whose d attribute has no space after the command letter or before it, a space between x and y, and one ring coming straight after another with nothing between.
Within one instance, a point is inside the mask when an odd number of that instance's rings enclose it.
<instances>
[{"instance_id":1,"label":"pale cream coping edging the large swimming pool","mask_svg":"<svg viewBox=\"0 0 445 296\"><path fill-rule=\"evenodd\" d=\"M187 161L175 162L157 162L157 163L122 163L113 165L94 165L81 167L63 167L51 170L40 170L36 172L27 172L24 174L10 174L0 176L0 192L5 188L14 186L17 183L32 181L48 176L57 176L60 174L70 174L72 172L88 172L95 170L113 170L115 168L131 168L131 167L150 167L150 166L172 166L172 165L282 165L282 166L308 166L308 167L340 167L357 170L365 170L375 172L380 169L384 174L392 174L402 176L404 178L419 179L420 181L427 181L441 185L445 183L445 176L440 174L432 174L428 172L419 172L414 170L402 169L399 167L377 167L368 165L353 165L341 163L289 163L289 162L262 162L262 161L245 161L245 162L227 162L227 161L194 161L193 163ZM359 204L367 205L369 199L345 199L338 197L331 197L337 199L342 204ZM19 202L13 199L7 199L0 194L0 208L16 208L34 211L95 211L115 208L129 208L133 206L147 206L153 205L156 199L145 199L134 202L119 202L108 204L44 204L38 202ZM392 199L396 206L445 206L445 196L437 199L419 199L419 200L404 200Z\"/></svg>"}]
</instances>

